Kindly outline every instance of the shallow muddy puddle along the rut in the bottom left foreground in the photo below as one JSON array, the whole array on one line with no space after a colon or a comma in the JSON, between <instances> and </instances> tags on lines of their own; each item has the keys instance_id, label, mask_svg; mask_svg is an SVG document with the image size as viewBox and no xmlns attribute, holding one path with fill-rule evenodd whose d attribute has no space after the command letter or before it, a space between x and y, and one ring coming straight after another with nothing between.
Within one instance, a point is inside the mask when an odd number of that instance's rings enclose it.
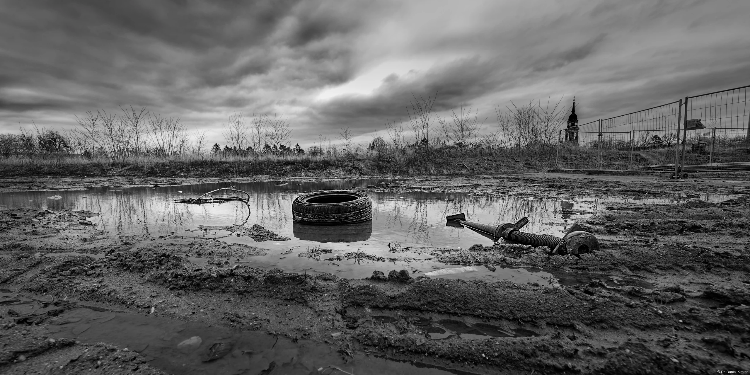
<instances>
[{"instance_id":1,"label":"shallow muddy puddle along the rut in the bottom left foreground","mask_svg":"<svg viewBox=\"0 0 750 375\"><path fill-rule=\"evenodd\" d=\"M365 375L466 374L420 362L343 357L337 348L312 341L84 307L74 301L40 301L10 290L0 290L0 306L4 313L10 309L20 324L44 320L53 338L127 347L172 374L337 374L336 368Z\"/></svg>"}]
</instances>

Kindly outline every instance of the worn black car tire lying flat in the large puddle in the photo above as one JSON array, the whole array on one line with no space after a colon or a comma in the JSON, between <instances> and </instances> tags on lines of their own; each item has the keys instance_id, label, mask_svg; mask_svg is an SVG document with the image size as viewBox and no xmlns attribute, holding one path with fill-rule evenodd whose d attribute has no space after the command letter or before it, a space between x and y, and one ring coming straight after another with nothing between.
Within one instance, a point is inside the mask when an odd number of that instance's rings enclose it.
<instances>
[{"instance_id":1,"label":"worn black car tire lying flat in the large puddle","mask_svg":"<svg viewBox=\"0 0 750 375\"><path fill-rule=\"evenodd\" d=\"M292 202L292 218L307 224L350 224L371 220L373 207L368 194L331 190L298 196Z\"/></svg>"}]
</instances>

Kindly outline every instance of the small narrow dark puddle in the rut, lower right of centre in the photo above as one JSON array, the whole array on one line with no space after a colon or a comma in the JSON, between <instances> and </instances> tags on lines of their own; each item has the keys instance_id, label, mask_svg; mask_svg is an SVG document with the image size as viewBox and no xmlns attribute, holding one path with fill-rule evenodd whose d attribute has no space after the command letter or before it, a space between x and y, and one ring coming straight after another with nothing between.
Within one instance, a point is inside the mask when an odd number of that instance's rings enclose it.
<instances>
[{"instance_id":1,"label":"small narrow dark puddle in the rut, lower right of centre","mask_svg":"<svg viewBox=\"0 0 750 375\"><path fill-rule=\"evenodd\" d=\"M380 323L398 323L401 317L379 315L372 317ZM538 336L537 332L530 329L505 329L502 326L489 323L466 323L463 320L440 319L434 320L428 317L419 317L407 320L418 326L425 333L426 338L443 340L446 338L463 338L466 340L478 340L484 338L525 338Z\"/></svg>"}]
</instances>

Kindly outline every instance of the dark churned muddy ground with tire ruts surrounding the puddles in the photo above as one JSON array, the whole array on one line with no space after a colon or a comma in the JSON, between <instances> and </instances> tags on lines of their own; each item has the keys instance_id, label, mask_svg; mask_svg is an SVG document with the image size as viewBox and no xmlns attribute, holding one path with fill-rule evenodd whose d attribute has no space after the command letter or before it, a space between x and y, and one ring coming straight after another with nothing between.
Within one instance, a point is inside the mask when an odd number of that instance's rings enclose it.
<instances>
[{"instance_id":1,"label":"dark churned muddy ground with tire ruts surrounding the puddles","mask_svg":"<svg viewBox=\"0 0 750 375\"><path fill-rule=\"evenodd\" d=\"M750 371L750 196L743 195L750 194L748 178L523 173L410 177L370 189L544 198L682 194L688 199L676 205L608 205L580 223L601 242L601 251L580 259L505 244L412 249L444 263L609 277L586 284L490 283L408 273L389 278L398 270L387 263L383 278L365 280L254 269L233 261L266 254L263 242L253 248L183 236L109 236L86 220L97 212L12 209L0 212L0 289L40 301L75 300L98 309L267 332L338 347L344 359L367 353L456 374ZM13 191L191 182L6 178L0 186ZM735 197L700 202L701 193ZM82 255L55 256L71 251ZM188 262L195 256L208 258L208 266ZM642 284L618 283L622 280ZM54 309L20 314L7 303L0 308L0 372L161 374L124 347L52 338L45 327L54 323ZM434 340L425 335L420 323L425 319L535 335Z\"/></svg>"}]
</instances>

